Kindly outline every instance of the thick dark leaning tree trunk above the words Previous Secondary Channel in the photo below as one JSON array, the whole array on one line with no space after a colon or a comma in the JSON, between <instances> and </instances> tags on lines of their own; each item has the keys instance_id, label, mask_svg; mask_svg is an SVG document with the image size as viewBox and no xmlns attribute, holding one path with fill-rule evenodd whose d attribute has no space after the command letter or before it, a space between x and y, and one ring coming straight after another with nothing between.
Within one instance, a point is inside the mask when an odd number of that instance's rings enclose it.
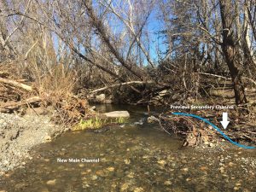
<instances>
[{"instance_id":1,"label":"thick dark leaning tree trunk above the words Previous Secondary Channel","mask_svg":"<svg viewBox=\"0 0 256 192\"><path fill-rule=\"evenodd\" d=\"M230 69L231 79L234 85L236 104L242 104L247 102L247 98L244 91L244 86L241 81L241 72L236 61L236 44L234 41L234 31L232 29L233 14L232 14L232 0L219 0L220 15L223 26L223 43L222 49L224 52L224 58Z\"/></svg>"}]
</instances>

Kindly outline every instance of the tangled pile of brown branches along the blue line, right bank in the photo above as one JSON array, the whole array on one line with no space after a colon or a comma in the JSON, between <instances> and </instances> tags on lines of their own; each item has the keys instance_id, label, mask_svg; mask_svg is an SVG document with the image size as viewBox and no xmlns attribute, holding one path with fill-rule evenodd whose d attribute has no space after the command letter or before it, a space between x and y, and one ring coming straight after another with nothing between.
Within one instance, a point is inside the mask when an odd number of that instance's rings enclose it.
<instances>
[{"instance_id":1,"label":"tangled pile of brown branches along the blue line, right bank","mask_svg":"<svg viewBox=\"0 0 256 192\"><path fill-rule=\"evenodd\" d=\"M193 112L205 119L209 119L214 125L218 125L221 129L219 121L222 112L206 114L201 111ZM171 115L170 115L171 114ZM227 130L223 130L225 135L230 137L237 143L249 142L256 143L256 130L252 122L247 122L245 116L239 115L237 111L230 112L230 119L233 119ZM196 146L205 144L212 147L214 143L218 143L219 139L224 137L216 131L211 125L191 117L175 116L172 113L160 115L160 126L168 133L174 133L183 137L183 146ZM238 125L239 124L239 125Z\"/></svg>"}]
</instances>

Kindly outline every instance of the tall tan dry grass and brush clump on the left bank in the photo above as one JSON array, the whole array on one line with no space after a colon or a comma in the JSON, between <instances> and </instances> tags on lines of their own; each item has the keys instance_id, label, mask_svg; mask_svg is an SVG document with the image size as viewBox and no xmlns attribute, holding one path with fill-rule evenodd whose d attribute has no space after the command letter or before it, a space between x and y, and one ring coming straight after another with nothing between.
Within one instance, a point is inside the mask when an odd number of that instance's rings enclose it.
<instances>
[{"instance_id":1,"label":"tall tan dry grass and brush clump on the left bank","mask_svg":"<svg viewBox=\"0 0 256 192\"><path fill-rule=\"evenodd\" d=\"M17 68L14 64L0 65L2 77L19 81L22 75L20 72L26 73L26 70ZM65 125L74 125L80 119L90 115L88 102L73 96L76 78L71 69L65 70L63 65L59 64L52 66L49 72L44 73L44 70L40 71L39 67L34 66L29 69L29 73L34 74L33 77L28 77L33 81L26 82L24 80L25 82L22 83L31 85L32 92L28 93L8 84L0 84L0 102L20 102L26 100L29 96L39 96L42 101L39 105L52 108L55 121ZM38 73L40 75L35 75ZM31 107L28 106L28 108Z\"/></svg>"}]
</instances>

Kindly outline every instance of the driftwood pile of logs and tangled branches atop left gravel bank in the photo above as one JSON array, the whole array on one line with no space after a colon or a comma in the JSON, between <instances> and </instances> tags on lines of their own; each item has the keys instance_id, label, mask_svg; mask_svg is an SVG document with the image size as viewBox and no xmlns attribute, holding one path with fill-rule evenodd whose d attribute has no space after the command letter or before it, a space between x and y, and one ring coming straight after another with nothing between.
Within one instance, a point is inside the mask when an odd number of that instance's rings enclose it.
<instances>
[{"instance_id":1,"label":"driftwood pile of logs and tangled branches atop left gravel bank","mask_svg":"<svg viewBox=\"0 0 256 192\"><path fill-rule=\"evenodd\" d=\"M43 79L44 83L38 84L19 79L11 67L1 65L0 71L0 113L25 114L32 110L38 114L37 109L44 108L53 114L56 122L66 125L93 113L86 100L73 95L73 82L69 79L64 79L67 82L60 79L63 84L55 88L52 79Z\"/></svg>"}]
</instances>

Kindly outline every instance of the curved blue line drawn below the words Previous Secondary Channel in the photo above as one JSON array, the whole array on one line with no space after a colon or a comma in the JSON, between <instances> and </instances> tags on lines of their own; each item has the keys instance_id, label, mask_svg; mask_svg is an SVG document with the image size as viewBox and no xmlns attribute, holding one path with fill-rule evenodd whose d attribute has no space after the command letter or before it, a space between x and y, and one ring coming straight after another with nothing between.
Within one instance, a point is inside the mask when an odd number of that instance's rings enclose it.
<instances>
[{"instance_id":1,"label":"curved blue line drawn below the words Previous Secondary Channel","mask_svg":"<svg viewBox=\"0 0 256 192\"><path fill-rule=\"evenodd\" d=\"M201 118L200 116L197 116L197 115L195 115L195 114L189 114L189 113L172 113L172 114L183 115L183 116L187 116L187 117L194 117L194 118L196 118L196 119L201 119L201 120L204 121L205 123L211 125L211 126L212 126L215 130L217 130L225 139L227 139L228 141L230 141L230 143L233 143L234 145L236 145L236 146L238 146L238 147L240 147L240 148L250 148L250 149L255 148L255 147L252 147L252 146L241 145L241 144L239 144L239 143L234 142L232 139L230 139L230 137L226 136L223 131L220 131L220 130L218 129L218 126L212 124L212 123L211 123L210 121L208 121L207 119Z\"/></svg>"}]
</instances>

